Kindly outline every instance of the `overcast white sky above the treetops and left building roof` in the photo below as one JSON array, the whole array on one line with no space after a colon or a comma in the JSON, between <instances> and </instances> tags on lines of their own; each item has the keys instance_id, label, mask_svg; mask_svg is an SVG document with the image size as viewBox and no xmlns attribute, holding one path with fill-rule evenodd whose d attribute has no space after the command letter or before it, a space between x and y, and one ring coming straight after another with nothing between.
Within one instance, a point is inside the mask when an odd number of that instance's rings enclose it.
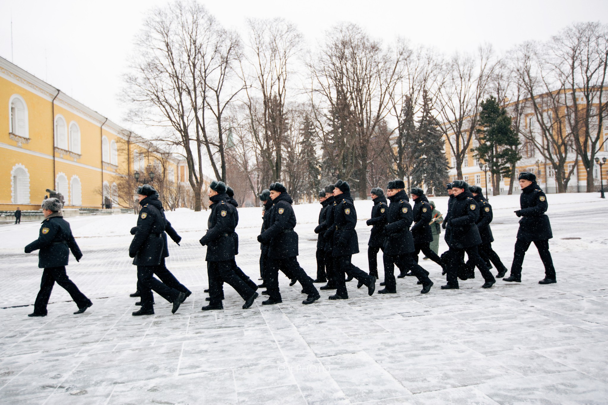
<instances>
[{"instance_id":1,"label":"overcast white sky above the treetops and left building roof","mask_svg":"<svg viewBox=\"0 0 608 405\"><path fill-rule=\"evenodd\" d=\"M132 128L117 101L126 56L143 15L167 2L0 0L0 56ZM246 18L280 16L295 22L314 45L326 29L351 21L376 38L404 36L446 53L472 51L486 42L508 50L527 39L548 39L572 22L608 20L607 0L201 2L225 27L237 30Z\"/></svg>"}]
</instances>

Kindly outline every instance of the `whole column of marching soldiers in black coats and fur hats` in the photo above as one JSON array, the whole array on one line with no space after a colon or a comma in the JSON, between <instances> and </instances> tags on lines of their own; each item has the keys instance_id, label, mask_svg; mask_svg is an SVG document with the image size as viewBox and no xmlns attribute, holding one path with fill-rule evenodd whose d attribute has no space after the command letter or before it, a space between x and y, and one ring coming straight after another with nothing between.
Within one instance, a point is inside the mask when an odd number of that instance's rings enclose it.
<instances>
[{"instance_id":1,"label":"whole column of marching soldiers in black coats and fur hats","mask_svg":"<svg viewBox=\"0 0 608 405\"><path fill-rule=\"evenodd\" d=\"M545 278L539 284L556 282L555 269L549 252L548 239L551 239L551 225L545 212L548 208L547 196L536 183L536 177L530 172L519 175L522 189L520 208L514 211L519 220L519 230L515 244L511 274L503 281L521 282L522 263L525 252L534 242L545 266ZM278 270L281 270L294 285L300 282L302 293L307 298L302 304L313 304L320 299L314 283L326 283L320 290L336 290L329 299L348 299L346 282L357 279L358 288L367 286L368 294L375 292L378 279L377 254L382 250L384 264L384 288L378 293L396 293L395 265L399 267L399 277L413 274L420 291L426 294L433 282L429 272L418 265L418 254L422 251L426 257L443 268L442 275L447 274L447 284L443 290L457 289L458 278L473 278L472 269L477 267L485 279L482 288L491 288L496 282L486 262L492 262L499 273L506 274L506 267L500 257L492 250L493 242L490 223L492 207L483 197L478 186L469 186L463 180L455 180L446 185L449 194L448 210L442 227L446 230L444 239L448 250L441 257L430 249L433 236L430 225L434 225L432 206L420 188L410 190L414 206L409 203L403 180L392 180L387 185L387 196L380 188L371 189L373 208L367 225L372 226L368 242L368 273L351 263L353 254L359 253L358 236L354 230L357 213L350 185L338 180L335 185L328 185L319 192L322 205L319 213L319 225L315 228L317 238L317 277L312 279L300 267L297 256L298 234L294 231L297 223L292 199L282 183L272 183L269 189L258 196L264 204L263 223L258 236L260 242L260 276L263 280L255 284L237 265L238 254L238 203L233 198L233 190L223 182L212 182L209 190L211 212L207 220L207 232L199 241L207 246L207 276L209 288L209 305L201 310L223 309L223 284L226 282L243 298L243 309L251 307L258 297L258 287L265 287L262 294L268 295L263 305L278 304L282 296L278 286ZM139 186L136 191L140 203L137 226L131 229L134 235L129 248L133 264L137 266L137 291L131 296L139 296L136 305L141 308L133 315L153 315L154 298L152 291L173 304L175 313L182 302L192 294L182 285L165 265L169 256L167 235L179 245L181 237L165 217L164 208L158 193L150 185ZM42 222L38 239L26 246L25 252L39 250L38 267L43 268L40 291L36 297L33 313L29 316L46 316L52 288L57 282L72 296L78 306L74 314L84 313L93 304L85 294L78 290L66 274L69 252L77 261L83 254L72 235L69 223L61 214L62 204L56 198L46 199L42 209ZM465 262L465 253L468 261ZM157 276L158 279L154 276Z\"/></svg>"}]
</instances>

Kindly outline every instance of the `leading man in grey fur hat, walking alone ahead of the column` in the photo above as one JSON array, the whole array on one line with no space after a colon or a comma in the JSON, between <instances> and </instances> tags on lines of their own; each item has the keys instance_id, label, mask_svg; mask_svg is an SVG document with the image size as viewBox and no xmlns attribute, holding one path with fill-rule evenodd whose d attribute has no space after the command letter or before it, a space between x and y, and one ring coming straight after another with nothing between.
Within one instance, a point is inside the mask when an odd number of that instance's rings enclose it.
<instances>
[{"instance_id":1,"label":"leading man in grey fur hat, walking alone ahead of the column","mask_svg":"<svg viewBox=\"0 0 608 405\"><path fill-rule=\"evenodd\" d=\"M55 282L63 287L78 305L78 311L74 312L74 315L83 313L86 308L93 305L91 300L78 290L76 284L66 274L70 251L74 254L77 262L82 258L82 253L74 235L72 235L69 222L63 219L62 206L60 200L56 198L44 200L42 203L44 220L40 226L40 234L38 239L25 248L26 253L40 249L38 252L38 267L44 268L40 291L38 291L34 303L34 311L27 316L47 315L46 306L49 304L50 293L53 291Z\"/></svg>"}]
</instances>

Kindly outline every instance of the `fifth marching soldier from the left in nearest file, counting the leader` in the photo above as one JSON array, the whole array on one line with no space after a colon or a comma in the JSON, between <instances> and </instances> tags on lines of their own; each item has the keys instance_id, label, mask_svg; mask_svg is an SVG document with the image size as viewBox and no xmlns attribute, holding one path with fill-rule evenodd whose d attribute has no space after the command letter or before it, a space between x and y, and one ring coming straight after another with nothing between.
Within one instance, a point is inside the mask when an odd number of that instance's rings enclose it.
<instances>
[{"instance_id":1,"label":"fifth marching soldier from the left in nearest file, counting the leader","mask_svg":"<svg viewBox=\"0 0 608 405\"><path fill-rule=\"evenodd\" d=\"M353 254L359 253L359 239L354 230L357 224L357 211L354 209L353 197L350 196L350 185L338 180L334 185L334 198L336 205L333 209L333 223L325 231L325 237L333 237L333 249L331 255L334 258L334 282L336 283L336 294L330 299L348 299L346 280L356 278L361 284L367 285L367 293L373 294L376 290L376 277L370 276L365 271L351 263Z\"/></svg>"}]
</instances>

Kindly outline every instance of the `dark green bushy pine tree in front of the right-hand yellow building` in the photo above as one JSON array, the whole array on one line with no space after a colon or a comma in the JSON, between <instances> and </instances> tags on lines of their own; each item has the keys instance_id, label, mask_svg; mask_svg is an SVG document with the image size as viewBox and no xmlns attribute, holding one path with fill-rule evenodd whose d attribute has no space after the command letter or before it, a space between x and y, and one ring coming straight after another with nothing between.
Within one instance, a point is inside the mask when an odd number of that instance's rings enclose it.
<instances>
[{"instance_id":1,"label":"dark green bushy pine tree in front of the right-hand yellow building","mask_svg":"<svg viewBox=\"0 0 608 405\"><path fill-rule=\"evenodd\" d=\"M511 168L522 157L517 153L519 138L511 128L511 117L494 96L482 101L475 157L486 163L492 175L492 195L500 194L500 175L511 176Z\"/></svg>"}]
</instances>

